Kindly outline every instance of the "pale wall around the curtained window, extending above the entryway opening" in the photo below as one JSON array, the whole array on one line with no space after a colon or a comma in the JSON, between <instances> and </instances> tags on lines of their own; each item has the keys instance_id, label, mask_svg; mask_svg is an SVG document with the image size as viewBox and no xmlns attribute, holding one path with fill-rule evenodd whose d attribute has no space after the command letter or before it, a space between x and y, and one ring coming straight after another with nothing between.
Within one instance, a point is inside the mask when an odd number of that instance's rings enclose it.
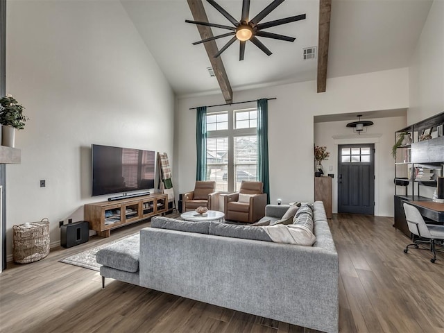
<instances>
[{"instance_id":1,"label":"pale wall around the curtained window, extending above the entryway opening","mask_svg":"<svg viewBox=\"0 0 444 333\"><path fill-rule=\"evenodd\" d=\"M314 116L407 108L408 82L404 68L329 79L322 94L314 81L235 92L234 102L277 97L268 101L271 203L314 199ZM219 103L220 95L178 101L173 166L178 193L194 188L196 179L196 110L189 108ZM392 133L398 128L402 125Z\"/></svg>"}]
</instances>

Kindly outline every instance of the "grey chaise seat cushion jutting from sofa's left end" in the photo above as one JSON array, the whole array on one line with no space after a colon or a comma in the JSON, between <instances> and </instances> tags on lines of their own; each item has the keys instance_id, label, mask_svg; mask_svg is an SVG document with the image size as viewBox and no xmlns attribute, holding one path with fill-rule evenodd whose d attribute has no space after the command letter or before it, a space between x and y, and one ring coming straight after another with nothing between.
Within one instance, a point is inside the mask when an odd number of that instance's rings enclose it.
<instances>
[{"instance_id":1,"label":"grey chaise seat cushion jutting from sofa's left end","mask_svg":"<svg viewBox=\"0 0 444 333\"><path fill-rule=\"evenodd\" d=\"M139 271L139 234L117 241L96 253L96 261L103 266L134 273Z\"/></svg>"}]
</instances>

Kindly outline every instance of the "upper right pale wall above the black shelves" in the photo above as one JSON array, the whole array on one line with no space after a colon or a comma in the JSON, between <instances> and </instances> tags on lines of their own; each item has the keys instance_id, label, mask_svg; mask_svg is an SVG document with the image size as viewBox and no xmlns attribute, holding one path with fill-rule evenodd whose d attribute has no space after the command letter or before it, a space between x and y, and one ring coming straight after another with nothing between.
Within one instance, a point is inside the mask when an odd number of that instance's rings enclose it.
<instances>
[{"instance_id":1,"label":"upper right pale wall above the black shelves","mask_svg":"<svg viewBox=\"0 0 444 333\"><path fill-rule=\"evenodd\" d=\"M435 0L411 59L408 123L444 112L444 1Z\"/></svg>"}]
</instances>

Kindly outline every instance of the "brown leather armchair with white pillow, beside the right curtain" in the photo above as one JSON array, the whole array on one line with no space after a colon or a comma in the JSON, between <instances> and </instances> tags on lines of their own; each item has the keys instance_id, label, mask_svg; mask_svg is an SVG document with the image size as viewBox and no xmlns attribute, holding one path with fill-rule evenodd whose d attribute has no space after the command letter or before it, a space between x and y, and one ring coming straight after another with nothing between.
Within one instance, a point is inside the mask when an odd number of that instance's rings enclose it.
<instances>
[{"instance_id":1,"label":"brown leather armchair with white pillow, beside the right curtain","mask_svg":"<svg viewBox=\"0 0 444 333\"><path fill-rule=\"evenodd\" d=\"M224 198L225 219L255 223L265 216L266 194L262 193L262 182L241 182L239 192Z\"/></svg>"}]
</instances>

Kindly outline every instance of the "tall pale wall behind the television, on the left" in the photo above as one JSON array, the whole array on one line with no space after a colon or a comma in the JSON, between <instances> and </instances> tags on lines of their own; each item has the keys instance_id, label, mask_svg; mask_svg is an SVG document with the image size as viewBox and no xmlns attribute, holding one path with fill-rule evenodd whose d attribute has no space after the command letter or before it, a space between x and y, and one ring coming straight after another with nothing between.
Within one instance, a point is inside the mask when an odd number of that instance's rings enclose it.
<instances>
[{"instance_id":1,"label":"tall pale wall behind the television, on the left","mask_svg":"<svg viewBox=\"0 0 444 333\"><path fill-rule=\"evenodd\" d=\"M29 117L17 132L22 164L7 168L12 225L83 219L90 147L173 156L175 97L119 1L8 1L6 87ZM40 188L40 180L46 187Z\"/></svg>"}]
</instances>

